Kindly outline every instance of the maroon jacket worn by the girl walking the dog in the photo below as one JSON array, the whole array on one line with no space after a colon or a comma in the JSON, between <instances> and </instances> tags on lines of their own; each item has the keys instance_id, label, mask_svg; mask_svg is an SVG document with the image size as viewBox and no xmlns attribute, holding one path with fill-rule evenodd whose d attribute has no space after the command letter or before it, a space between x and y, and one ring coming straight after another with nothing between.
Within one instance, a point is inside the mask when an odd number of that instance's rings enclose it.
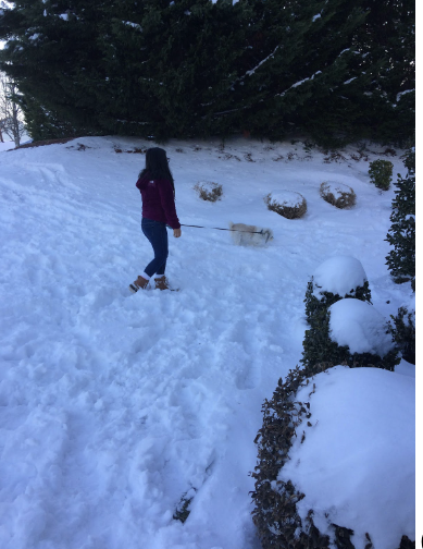
<instances>
[{"instance_id":1,"label":"maroon jacket worn by the girl walking the dog","mask_svg":"<svg viewBox=\"0 0 423 549\"><path fill-rule=\"evenodd\" d=\"M172 183L169 180L151 180L148 174L136 183L142 196L142 217L179 229Z\"/></svg>"}]
</instances>

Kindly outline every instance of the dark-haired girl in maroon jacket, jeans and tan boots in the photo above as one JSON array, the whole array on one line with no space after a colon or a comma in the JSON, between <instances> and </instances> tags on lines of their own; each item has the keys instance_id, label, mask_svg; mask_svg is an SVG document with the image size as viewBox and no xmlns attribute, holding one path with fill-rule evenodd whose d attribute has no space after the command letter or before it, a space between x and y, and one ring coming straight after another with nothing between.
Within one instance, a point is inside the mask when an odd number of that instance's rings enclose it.
<instances>
[{"instance_id":1,"label":"dark-haired girl in maroon jacket, jeans and tan boots","mask_svg":"<svg viewBox=\"0 0 423 549\"><path fill-rule=\"evenodd\" d=\"M141 229L154 251L142 274L129 284L132 292L146 289L151 277L155 288L169 290L164 276L169 255L166 224L173 229L173 235L181 236L181 223L175 208L175 184L169 169L166 151L159 147L147 149L146 168L138 175L136 183L142 196Z\"/></svg>"}]
</instances>

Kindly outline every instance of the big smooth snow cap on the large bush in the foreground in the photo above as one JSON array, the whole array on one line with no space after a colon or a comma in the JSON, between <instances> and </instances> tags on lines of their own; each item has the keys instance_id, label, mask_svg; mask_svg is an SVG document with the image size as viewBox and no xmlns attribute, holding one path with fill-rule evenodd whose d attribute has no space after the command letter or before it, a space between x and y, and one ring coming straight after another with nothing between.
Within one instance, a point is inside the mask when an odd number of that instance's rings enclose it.
<instances>
[{"instance_id":1,"label":"big smooth snow cap on the large bush in the foreground","mask_svg":"<svg viewBox=\"0 0 423 549\"><path fill-rule=\"evenodd\" d=\"M313 383L313 394L308 386L296 396L310 402L311 426L299 427L306 439L295 439L278 475L306 493L300 517L313 509L332 539L331 523L348 526L356 549L364 549L366 533L374 549L398 549L402 535L413 540L414 379L337 366Z\"/></svg>"}]
</instances>

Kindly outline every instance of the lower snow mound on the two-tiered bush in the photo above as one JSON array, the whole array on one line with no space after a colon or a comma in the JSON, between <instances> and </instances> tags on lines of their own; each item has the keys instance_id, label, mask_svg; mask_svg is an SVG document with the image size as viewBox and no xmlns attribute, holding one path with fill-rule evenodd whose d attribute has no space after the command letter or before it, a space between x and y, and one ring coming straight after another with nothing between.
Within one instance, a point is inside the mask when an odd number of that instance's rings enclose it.
<instances>
[{"instance_id":1,"label":"lower snow mound on the two-tiered bush","mask_svg":"<svg viewBox=\"0 0 423 549\"><path fill-rule=\"evenodd\" d=\"M370 303L340 300L328 308L331 339L347 345L351 353L372 353L385 356L394 349L386 332L386 319Z\"/></svg>"}]
</instances>

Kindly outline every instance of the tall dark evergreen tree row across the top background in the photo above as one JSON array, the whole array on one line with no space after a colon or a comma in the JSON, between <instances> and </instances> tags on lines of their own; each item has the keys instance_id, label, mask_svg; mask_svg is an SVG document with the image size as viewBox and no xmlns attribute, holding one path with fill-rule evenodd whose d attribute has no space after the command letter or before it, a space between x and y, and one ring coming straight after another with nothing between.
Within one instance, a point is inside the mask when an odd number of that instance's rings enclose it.
<instances>
[{"instance_id":1,"label":"tall dark evergreen tree row across the top background","mask_svg":"<svg viewBox=\"0 0 423 549\"><path fill-rule=\"evenodd\" d=\"M16 0L0 14L0 69L17 83L37 138L246 131L278 139L301 130L326 144L402 139L413 131L413 17L398 0L284 9L279 0Z\"/></svg>"}]
</instances>

